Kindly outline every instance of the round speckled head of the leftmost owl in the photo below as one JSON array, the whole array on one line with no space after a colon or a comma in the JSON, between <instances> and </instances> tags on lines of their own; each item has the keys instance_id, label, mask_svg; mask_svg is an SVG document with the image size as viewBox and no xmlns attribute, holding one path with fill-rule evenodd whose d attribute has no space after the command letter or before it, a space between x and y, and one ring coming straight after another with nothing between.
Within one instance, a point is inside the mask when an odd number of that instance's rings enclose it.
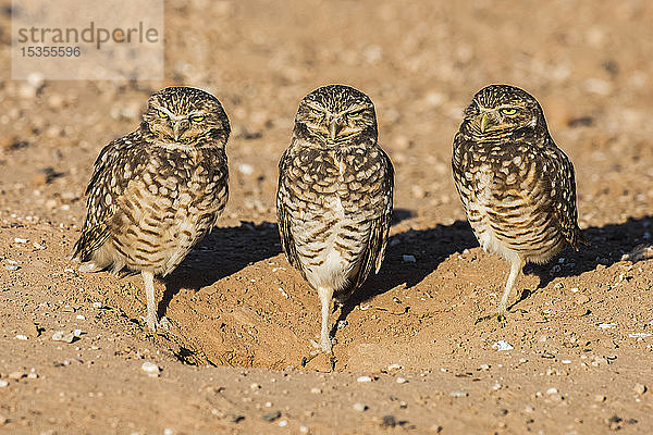
<instances>
[{"instance_id":1,"label":"round speckled head of the leftmost owl","mask_svg":"<svg viewBox=\"0 0 653 435\"><path fill-rule=\"evenodd\" d=\"M189 87L170 87L149 98L143 114L146 136L163 144L201 147L226 145L231 127L220 101Z\"/></svg>"}]
</instances>

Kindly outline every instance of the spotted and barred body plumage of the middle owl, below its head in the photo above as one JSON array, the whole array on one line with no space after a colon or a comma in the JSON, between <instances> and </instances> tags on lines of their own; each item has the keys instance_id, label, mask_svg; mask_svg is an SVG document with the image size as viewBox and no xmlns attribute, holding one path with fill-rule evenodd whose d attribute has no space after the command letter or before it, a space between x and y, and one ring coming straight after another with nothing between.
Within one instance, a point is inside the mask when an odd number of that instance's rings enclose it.
<instances>
[{"instance_id":1,"label":"spotted and barred body plumage of the middle owl, below its head","mask_svg":"<svg viewBox=\"0 0 653 435\"><path fill-rule=\"evenodd\" d=\"M307 269L319 262L307 246L342 248L354 273L347 278L353 290L383 260L392 216L392 163L375 144L323 149L301 142L294 139L280 162L278 220L284 252L306 277Z\"/></svg>"}]
</instances>

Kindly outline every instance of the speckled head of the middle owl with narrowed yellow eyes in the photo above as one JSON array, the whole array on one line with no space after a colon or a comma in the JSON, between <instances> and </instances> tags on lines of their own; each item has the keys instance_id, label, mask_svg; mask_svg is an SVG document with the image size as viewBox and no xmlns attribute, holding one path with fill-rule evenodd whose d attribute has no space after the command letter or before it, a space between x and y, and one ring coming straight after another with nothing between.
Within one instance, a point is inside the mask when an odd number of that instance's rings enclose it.
<instances>
[{"instance_id":1,"label":"speckled head of the middle owl with narrowed yellow eyes","mask_svg":"<svg viewBox=\"0 0 653 435\"><path fill-rule=\"evenodd\" d=\"M304 97L295 116L295 134L328 148L377 140L372 100L344 85L329 85Z\"/></svg>"}]
</instances>

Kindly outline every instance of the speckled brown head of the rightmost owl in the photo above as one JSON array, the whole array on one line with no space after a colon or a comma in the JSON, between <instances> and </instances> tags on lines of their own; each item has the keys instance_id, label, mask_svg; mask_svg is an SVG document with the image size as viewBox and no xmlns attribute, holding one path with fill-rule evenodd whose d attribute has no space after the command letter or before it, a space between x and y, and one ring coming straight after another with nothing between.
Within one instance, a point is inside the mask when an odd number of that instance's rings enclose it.
<instances>
[{"instance_id":1,"label":"speckled brown head of the rightmost owl","mask_svg":"<svg viewBox=\"0 0 653 435\"><path fill-rule=\"evenodd\" d=\"M465 109L463 127L476 137L496 137L518 129L546 129L538 100L508 85L490 85L473 96Z\"/></svg>"}]
</instances>

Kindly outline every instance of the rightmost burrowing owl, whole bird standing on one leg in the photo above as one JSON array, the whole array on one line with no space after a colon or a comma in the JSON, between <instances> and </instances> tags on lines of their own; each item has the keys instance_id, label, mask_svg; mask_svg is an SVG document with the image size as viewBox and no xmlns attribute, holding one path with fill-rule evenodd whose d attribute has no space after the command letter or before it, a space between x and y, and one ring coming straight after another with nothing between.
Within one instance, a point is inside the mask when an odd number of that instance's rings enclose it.
<instances>
[{"instance_id":1,"label":"rightmost burrowing owl, whole bird standing on one leg","mask_svg":"<svg viewBox=\"0 0 653 435\"><path fill-rule=\"evenodd\" d=\"M584 243L574 165L549 135L538 101L507 85L488 86L473 97L454 138L452 163L480 245L510 263L501 320L526 262L543 263Z\"/></svg>"}]
</instances>

